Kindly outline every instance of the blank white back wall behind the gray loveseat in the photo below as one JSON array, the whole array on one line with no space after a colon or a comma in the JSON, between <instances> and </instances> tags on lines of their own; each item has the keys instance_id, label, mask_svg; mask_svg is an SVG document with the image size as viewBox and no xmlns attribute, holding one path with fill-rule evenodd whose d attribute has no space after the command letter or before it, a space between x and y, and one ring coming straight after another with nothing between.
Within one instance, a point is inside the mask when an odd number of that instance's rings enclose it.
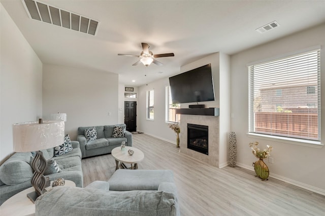
<instances>
[{"instance_id":1,"label":"blank white back wall behind the gray loveseat","mask_svg":"<svg viewBox=\"0 0 325 216\"><path fill-rule=\"evenodd\" d=\"M43 66L43 115L67 113L66 134L79 126L118 123L118 74L59 65Z\"/></svg>"}]
</instances>

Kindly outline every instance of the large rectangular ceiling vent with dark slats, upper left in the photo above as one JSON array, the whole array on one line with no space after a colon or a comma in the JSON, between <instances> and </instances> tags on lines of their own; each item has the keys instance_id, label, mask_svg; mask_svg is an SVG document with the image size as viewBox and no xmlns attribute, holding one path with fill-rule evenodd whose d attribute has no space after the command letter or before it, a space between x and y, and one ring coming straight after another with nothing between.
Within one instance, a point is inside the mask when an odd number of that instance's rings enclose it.
<instances>
[{"instance_id":1,"label":"large rectangular ceiling vent with dark slats, upper left","mask_svg":"<svg viewBox=\"0 0 325 216\"><path fill-rule=\"evenodd\" d=\"M31 19L95 35L99 22L40 2L23 0Z\"/></svg>"}]
</instances>

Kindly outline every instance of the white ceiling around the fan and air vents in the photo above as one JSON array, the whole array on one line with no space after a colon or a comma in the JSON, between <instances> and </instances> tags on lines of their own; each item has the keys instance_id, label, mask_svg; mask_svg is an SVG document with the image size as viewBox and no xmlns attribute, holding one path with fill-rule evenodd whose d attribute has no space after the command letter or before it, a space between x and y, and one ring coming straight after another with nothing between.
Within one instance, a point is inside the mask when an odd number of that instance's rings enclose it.
<instances>
[{"instance_id":1,"label":"white ceiling around the fan and air vents","mask_svg":"<svg viewBox=\"0 0 325 216\"><path fill-rule=\"evenodd\" d=\"M100 21L95 36L28 17L20 0L1 0L44 64L95 68L139 86L180 72L215 52L229 55L325 22L325 1L39 1ZM256 28L277 21L265 33ZM163 66L132 66L141 42ZM147 71L146 71L147 70ZM147 78L144 74L147 72ZM136 82L132 82L136 80Z\"/></svg>"}]
</instances>

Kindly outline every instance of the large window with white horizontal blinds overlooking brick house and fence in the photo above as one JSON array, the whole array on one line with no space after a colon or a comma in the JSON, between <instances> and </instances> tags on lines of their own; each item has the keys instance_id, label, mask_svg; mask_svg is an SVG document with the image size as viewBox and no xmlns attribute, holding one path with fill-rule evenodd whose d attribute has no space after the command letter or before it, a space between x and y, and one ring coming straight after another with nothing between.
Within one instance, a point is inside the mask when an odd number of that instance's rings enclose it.
<instances>
[{"instance_id":1,"label":"large window with white horizontal blinds overlooking brick house and fence","mask_svg":"<svg viewBox=\"0 0 325 216\"><path fill-rule=\"evenodd\" d=\"M248 67L250 133L320 141L319 52Z\"/></svg>"}]
</instances>

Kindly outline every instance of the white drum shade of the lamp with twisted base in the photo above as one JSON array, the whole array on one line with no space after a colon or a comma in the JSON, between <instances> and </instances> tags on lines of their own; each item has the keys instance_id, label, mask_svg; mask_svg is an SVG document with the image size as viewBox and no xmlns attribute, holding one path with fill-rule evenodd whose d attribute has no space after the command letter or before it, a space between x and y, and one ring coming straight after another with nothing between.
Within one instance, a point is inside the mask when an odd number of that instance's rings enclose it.
<instances>
[{"instance_id":1,"label":"white drum shade of the lamp with twisted base","mask_svg":"<svg viewBox=\"0 0 325 216\"><path fill-rule=\"evenodd\" d=\"M64 121L49 120L13 124L14 152L54 148L64 142Z\"/></svg>"}]
</instances>

